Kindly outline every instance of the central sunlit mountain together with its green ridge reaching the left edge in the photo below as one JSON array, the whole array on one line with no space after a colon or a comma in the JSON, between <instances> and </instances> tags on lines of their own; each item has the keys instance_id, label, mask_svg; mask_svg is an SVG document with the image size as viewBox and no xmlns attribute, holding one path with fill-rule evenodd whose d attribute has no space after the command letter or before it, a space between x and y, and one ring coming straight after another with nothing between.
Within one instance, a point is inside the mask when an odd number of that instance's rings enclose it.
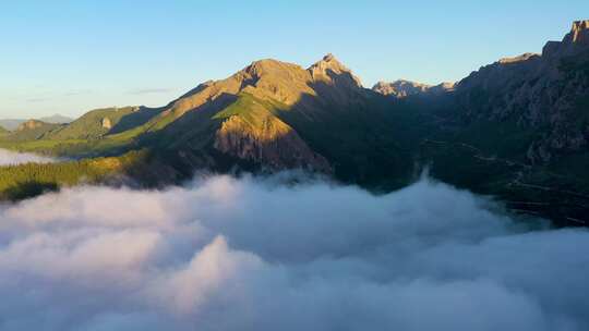
<instances>
[{"instance_id":1,"label":"central sunlit mountain together with its green ridge reaching the left edge","mask_svg":"<svg viewBox=\"0 0 589 331\"><path fill-rule=\"evenodd\" d=\"M39 132L43 144L19 143L24 139L14 134L0 147L70 158L146 148L180 176L202 168L303 168L389 189L413 175L410 150L401 146L412 140L404 117L333 54L306 69L266 59L163 108L93 110Z\"/></svg>"}]
</instances>

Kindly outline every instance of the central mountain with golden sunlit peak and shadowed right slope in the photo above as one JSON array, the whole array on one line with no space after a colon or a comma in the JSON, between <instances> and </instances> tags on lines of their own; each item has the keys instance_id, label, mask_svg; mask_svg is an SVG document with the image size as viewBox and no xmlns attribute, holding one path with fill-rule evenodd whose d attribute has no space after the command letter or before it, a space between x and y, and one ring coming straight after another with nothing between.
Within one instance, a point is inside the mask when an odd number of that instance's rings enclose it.
<instances>
[{"instance_id":1,"label":"central mountain with golden sunlit peak and shadowed right slope","mask_svg":"<svg viewBox=\"0 0 589 331\"><path fill-rule=\"evenodd\" d=\"M306 168L370 182L383 166L404 175L412 167L388 134L386 105L333 54L308 69L261 60L171 102L146 123L143 140L181 150L189 166L197 157L213 168Z\"/></svg>"}]
</instances>

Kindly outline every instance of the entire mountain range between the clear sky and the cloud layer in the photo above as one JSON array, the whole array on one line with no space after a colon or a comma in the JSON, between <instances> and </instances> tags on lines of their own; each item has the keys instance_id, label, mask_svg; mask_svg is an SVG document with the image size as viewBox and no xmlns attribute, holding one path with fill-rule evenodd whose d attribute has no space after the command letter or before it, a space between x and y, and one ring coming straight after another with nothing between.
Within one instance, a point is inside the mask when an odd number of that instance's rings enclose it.
<instances>
[{"instance_id":1,"label":"entire mountain range between the clear sky and the cloud layer","mask_svg":"<svg viewBox=\"0 0 589 331\"><path fill-rule=\"evenodd\" d=\"M589 21L579 21L542 54L502 59L457 83L381 82L369 89L333 54L306 69L268 59L161 108L21 123L2 134L0 147L100 160L92 164L109 164L112 173L97 181L124 174L144 185L203 169L302 168L388 192L429 169L512 210L587 224L588 142ZM137 155L141 161L129 157ZM96 170L80 164L80 177Z\"/></svg>"}]
</instances>

